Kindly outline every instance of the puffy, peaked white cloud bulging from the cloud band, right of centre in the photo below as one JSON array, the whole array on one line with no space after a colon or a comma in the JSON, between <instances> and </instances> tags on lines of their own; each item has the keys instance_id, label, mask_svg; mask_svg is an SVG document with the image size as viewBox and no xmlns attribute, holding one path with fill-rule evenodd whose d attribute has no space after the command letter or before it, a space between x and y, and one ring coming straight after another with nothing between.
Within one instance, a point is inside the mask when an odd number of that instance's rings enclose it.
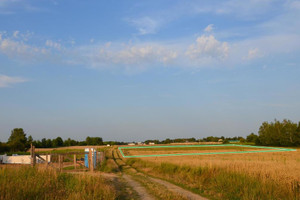
<instances>
[{"instance_id":1,"label":"puffy, peaked white cloud bulging from the cloud band, right of centre","mask_svg":"<svg viewBox=\"0 0 300 200\"><path fill-rule=\"evenodd\" d=\"M190 45L186 51L186 55L193 60L201 60L203 58L224 59L228 56L228 53L228 43L216 40L213 35L198 37L196 44Z\"/></svg>"}]
</instances>

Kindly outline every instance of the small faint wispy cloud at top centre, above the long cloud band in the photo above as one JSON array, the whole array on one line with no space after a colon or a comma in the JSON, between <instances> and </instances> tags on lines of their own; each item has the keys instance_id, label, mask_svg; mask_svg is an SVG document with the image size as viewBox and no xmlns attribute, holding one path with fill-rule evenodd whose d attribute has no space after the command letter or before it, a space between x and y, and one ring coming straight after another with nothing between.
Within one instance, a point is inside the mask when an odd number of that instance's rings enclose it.
<instances>
[{"instance_id":1,"label":"small faint wispy cloud at top centre, above the long cloud band","mask_svg":"<svg viewBox=\"0 0 300 200\"><path fill-rule=\"evenodd\" d=\"M159 28L159 22L150 17L128 20L135 26L140 35L155 34Z\"/></svg>"}]
</instances>

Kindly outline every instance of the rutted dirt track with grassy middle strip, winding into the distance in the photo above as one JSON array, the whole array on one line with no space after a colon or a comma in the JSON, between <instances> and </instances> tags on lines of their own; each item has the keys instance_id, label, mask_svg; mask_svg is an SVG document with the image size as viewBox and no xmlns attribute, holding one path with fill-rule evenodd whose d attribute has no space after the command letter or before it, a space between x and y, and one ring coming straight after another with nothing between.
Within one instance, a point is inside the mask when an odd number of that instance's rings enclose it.
<instances>
[{"instance_id":1,"label":"rutted dirt track with grassy middle strip, winding into the distance","mask_svg":"<svg viewBox=\"0 0 300 200\"><path fill-rule=\"evenodd\" d=\"M116 149L111 149L112 164L115 173L104 172L69 172L72 174L102 176L110 180L118 191L118 199L122 200L207 200L198 194L183 189L168 181L138 172L127 165Z\"/></svg>"}]
</instances>

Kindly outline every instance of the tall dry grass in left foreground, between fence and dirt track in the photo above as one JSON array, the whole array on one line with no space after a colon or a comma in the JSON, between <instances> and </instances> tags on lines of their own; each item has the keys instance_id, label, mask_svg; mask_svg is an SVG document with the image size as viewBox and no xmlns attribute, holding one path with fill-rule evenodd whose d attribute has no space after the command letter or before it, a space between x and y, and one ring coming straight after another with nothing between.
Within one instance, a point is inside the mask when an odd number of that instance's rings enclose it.
<instances>
[{"instance_id":1,"label":"tall dry grass in left foreground, between fence and dirt track","mask_svg":"<svg viewBox=\"0 0 300 200\"><path fill-rule=\"evenodd\" d=\"M0 199L116 199L101 177L59 173L29 166L0 168Z\"/></svg>"}]
</instances>

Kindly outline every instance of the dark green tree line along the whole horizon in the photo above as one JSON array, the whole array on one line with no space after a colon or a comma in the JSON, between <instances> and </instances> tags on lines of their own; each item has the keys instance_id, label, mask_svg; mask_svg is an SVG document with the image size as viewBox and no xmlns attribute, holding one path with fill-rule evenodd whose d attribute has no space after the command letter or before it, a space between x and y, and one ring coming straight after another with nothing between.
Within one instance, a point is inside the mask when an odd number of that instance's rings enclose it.
<instances>
[{"instance_id":1,"label":"dark green tree line along the whole horizon","mask_svg":"<svg viewBox=\"0 0 300 200\"><path fill-rule=\"evenodd\" d=\"M246 138L237 137L214 137L209 136L202 139L195 138L176 138L165 140L146 140L144 143L170 144L183 142L223 142L228 143L230 140L238 140L242 143L252 143L264 146L300 146L300 122L294 123L284 119L282 122L263 122L259 127L258 134L251 133ZM33 140L32 136L26 136L22 128L15 128L6 143L0 142L0 153L26 151L30 144L36 148L56 148L64 146L86 146L86 145L124 145L125 142L107 141L103 142L101 137L86 137L84 141L76 141L71 138L63 140L61 137L55 139Z\"/></svg>"}]
</instances>

